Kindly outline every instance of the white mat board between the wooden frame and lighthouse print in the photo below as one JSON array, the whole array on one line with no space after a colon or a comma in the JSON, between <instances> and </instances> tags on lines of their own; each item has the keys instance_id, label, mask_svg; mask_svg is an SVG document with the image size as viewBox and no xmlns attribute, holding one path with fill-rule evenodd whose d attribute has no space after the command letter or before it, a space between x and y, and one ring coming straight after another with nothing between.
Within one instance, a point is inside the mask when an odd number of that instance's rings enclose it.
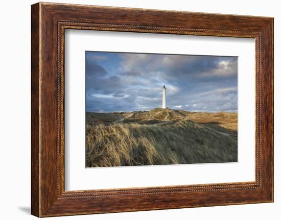
<instances>
[{"instance_id":1,"label":"white mat board between the wooden frame and lighthouse print","mask_svg":"<svg viewBox=\"0 0 281 220\"><path fill-rule=\"evenodd\" d=\"M254 48L254 39L249 38L67 30L65 190L254 181ZM85 169L85 51L238 57L238 163Z\"/></svg>"}]
</instances>

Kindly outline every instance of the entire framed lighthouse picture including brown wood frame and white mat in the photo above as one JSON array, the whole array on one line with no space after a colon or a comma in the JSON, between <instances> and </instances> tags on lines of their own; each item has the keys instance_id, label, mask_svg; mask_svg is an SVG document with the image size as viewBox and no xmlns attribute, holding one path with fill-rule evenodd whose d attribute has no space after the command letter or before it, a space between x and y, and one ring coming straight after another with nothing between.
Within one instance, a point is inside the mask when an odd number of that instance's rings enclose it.
<instances>
[{"instance_id":1,"label":"entire framed lighthouse picture including brown wood frame and white mat","mask_svg":"<svg viewBox=\"0 0 281 220\"><path fill-rule=\"evenodd\" d=\"M31 9L33 215L273 202L273 18Z\"/></svg>"}]
</instances>

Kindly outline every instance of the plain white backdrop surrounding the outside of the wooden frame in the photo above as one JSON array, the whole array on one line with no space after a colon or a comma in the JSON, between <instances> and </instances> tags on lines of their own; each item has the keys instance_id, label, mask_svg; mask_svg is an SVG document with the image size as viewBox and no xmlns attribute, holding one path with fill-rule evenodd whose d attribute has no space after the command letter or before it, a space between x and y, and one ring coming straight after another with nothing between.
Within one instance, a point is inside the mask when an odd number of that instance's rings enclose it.
<instances>
[{"instance_id":1,"label":"plain white backdrop surrounding the outside of the wooden frame","mask_svg":"<svg viewBox=\"0 0 281 220\"><path fill-rule=\"evenodd\" d=\"M54 217L54 219L279 219L281 215L281 14L278 1L152 1L101 0L53 1L89 5L183 10L225 14L274 16L275 71L275 202L207 208L158 210ZM30 212L30 5L35 1L3 1L1 4L1 212L2 219L36 219ZM50 218L52 219L52 218Z\"/></svg>"}]
</instances>

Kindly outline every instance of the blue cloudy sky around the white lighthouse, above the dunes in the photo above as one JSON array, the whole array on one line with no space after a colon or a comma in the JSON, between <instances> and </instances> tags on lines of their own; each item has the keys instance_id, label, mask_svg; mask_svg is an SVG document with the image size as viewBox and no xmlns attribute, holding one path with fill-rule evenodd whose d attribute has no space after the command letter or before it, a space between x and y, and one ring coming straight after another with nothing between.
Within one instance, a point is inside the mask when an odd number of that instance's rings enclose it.
<instances>
[{"instance_id":1,"label":"blue cloudy sky around the white lighthouse, above the dunes","mask_svg":"<svg viewBox=\"0 0 281 220\"><path fill-rule=\"evenodd\" d=\"M86 111L237 111L237 57L85 52Z\"/></svg>"}]
</instances>

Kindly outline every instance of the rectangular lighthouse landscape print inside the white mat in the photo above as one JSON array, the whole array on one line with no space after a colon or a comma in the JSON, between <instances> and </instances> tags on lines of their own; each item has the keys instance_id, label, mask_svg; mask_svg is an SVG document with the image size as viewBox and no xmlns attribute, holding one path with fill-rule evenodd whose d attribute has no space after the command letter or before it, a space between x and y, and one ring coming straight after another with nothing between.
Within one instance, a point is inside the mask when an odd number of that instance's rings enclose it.
<instances>
[{"instance_id":1,"label":"rectangular lighthouse landscape print inside the white mat","mask_svg":"<svg viewBox=\"0 0 281 220\"><path fill-rule=\"evenodd\" d=\"M238 162L238 58L85 52L86 167Z\"/></svg>"}]
</instances>

